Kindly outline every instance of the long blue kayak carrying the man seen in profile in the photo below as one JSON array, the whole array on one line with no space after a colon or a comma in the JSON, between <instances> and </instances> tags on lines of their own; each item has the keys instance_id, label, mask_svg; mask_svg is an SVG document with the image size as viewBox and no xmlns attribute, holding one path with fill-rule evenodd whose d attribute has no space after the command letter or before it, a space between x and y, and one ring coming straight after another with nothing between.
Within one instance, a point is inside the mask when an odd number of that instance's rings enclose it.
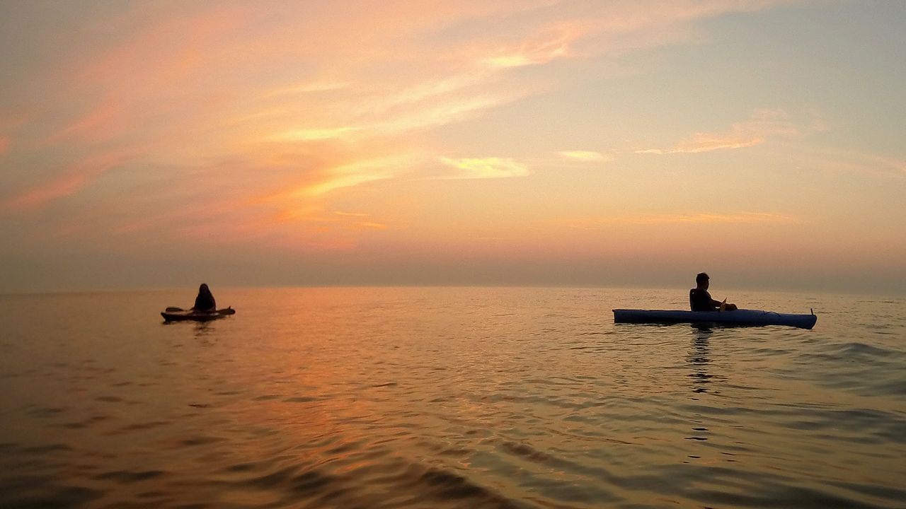
<instances>
[{"instance_id":1,"label":"long blue kayak carrying the man seen in profile","mask_svg":"<svg viewBox=\"0 0 906 509\"><path fill-rule=\"evenodd\" d=\"M761 310L741 309L724 312L696 312L679 310L613 310L614 323L720 323L723 325L761 326L789 325L811 329L818 317L812 314L791 314Z\"/></svg>"}]
</instances>

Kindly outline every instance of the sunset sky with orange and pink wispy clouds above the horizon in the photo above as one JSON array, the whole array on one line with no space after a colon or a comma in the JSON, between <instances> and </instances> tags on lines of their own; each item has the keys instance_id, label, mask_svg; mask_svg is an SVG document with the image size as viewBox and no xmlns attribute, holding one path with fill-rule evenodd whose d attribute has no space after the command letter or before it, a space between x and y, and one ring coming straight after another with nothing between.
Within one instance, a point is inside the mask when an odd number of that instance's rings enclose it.
<instances>
[{"instance_id":1,"label":"sunset sky with orange and pink wispy clouds above the horizon","mask_svg":"<svg viewBox=\"0 0 906 509\"><path fill-rule=\"evenodd\" d=\"M906 3L0 0L0 293L906 294Z\"/></svg>"}]
</instances>

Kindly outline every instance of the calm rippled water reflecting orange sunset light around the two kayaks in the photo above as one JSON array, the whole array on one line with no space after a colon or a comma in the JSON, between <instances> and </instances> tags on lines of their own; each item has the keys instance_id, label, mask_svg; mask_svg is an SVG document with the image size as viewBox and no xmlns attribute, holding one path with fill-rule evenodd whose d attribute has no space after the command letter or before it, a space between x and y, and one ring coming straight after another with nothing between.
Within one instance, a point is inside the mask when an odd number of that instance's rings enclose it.
<instances>
[{"instance_id":1,"label":"calm rippled water reflecting orange sunset light around the two kayaks","mask_svg":"<svg viewBox=\"0 0 906 509\"><path fill-rule=\"evenodd\" d=\"M0 507L906 506L903 299L213 290L0 297Z\"/></svg>"}]
</instances>

